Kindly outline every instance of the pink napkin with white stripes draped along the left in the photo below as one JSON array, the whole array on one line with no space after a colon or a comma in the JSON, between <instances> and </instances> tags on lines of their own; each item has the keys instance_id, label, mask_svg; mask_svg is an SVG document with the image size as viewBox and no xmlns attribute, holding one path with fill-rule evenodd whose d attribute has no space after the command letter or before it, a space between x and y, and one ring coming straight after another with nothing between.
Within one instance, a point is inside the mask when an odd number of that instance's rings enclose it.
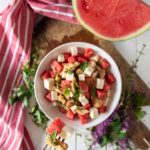
<instances>
[{"instance_id":1,"label":"pink napkin with white stripes draped along the left","mask_svg":"<svg viewBox=\"0 0 150 150\"><path fill-rule=\"evenodd\" d=\"M35 13L76 22L68 0L12 0L0 13L0 150L34 150L24 128L24 107L8 97L22 84L20 70L30 54Z\"/></svg>"}]
</instances>

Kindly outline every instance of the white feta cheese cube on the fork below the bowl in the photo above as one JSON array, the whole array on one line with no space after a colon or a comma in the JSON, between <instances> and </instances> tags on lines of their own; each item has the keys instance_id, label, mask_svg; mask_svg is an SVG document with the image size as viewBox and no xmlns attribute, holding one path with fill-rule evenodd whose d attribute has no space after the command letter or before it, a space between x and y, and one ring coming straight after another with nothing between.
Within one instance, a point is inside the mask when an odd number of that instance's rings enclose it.
<instances>
[{"instance_id":1,"label":"white feta cheese cube on the fork below the bowl","mask_svg":"<svg viewBox=\"0 0 150 150\"><path fill-rule=\"evenodd\" d=\"M68 126L64 126L62 128L62 131L60 132L60 137L65 139L65 140L69 140L71 138L71 136L73 135L74 129L68 127Z\"/></svg>"}]
</instances>

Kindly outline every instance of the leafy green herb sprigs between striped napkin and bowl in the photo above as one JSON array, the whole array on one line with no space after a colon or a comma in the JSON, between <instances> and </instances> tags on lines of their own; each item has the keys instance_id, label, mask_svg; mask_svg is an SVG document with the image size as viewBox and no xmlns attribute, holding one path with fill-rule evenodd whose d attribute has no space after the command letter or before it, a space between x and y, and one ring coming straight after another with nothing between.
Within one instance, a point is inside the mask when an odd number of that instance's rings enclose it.
<instances>
[{"instance_id":1,"label":"leafy green herb sprigs between striped napkin and bowl","mask_svg":"<svg viewBox=\"0 0 150 150\"><path fill-rule=\"evenodd\" d=\"M32 116L34 123L40 127L45 127L48 118L40 110L37 104L33 107L30 106L31 97L34 96L34 76L38 67L37 60L39 60L39 50L37 43L34 43L31 49L30 61L26 63L21 72L24 83L23 85L14 88L13 94L9 98L9 102L13 105L17 101L22 101L25 107L31 109L30 115Z\"/></svg>"}]
</instances>

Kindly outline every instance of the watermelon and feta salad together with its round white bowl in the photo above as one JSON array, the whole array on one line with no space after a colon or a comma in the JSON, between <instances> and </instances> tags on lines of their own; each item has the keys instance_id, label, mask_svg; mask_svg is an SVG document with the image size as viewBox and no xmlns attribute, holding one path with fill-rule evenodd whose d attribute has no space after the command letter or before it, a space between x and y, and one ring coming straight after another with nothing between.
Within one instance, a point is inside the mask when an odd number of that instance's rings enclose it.
<instances>
[{"instance_id":1,"label":"watermelon and feta salad together with its round white bowl","mask_svg":"<svg viewBox=\"0 0 150 150\"><path fill-rule=\"evenodd\" d=\"M50 119L57 117L74 129L107 119L121 94L121 76L109 54L99 47L71 42L61 45L40 63L35 95Z\"/></svg>"}]
</instances>

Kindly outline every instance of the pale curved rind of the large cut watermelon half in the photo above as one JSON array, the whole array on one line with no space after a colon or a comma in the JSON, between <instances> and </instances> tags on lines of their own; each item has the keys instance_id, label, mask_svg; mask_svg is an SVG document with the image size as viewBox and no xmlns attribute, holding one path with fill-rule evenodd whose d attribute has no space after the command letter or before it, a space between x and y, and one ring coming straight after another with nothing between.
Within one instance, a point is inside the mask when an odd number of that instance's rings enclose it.
<instances>
[{"instance_id":1,"label":"pale curved rind of the large cut watermelon half","mask_svg":"<svg viewBox=\"0 0 150 150\"><path fill-rule=\"evenodd\" d=\"M145 24L142 28L139 28L138 30L136 30L135 32L132 32L128 35L125 35L125 36L121 36L119 38L113 38L113 37L108 37L108 36L104 36L100 33L97 33L93 28L91 28L90 26L88 26L88 23L85 22L81 17L80 17L80 14L79 14L79 11L78 11L78 8L77 8L77 1L78 0L72 0L72 5L73 5L73 10L75 12L75 15L79 21L79 23L85 27L88 31L90 31L91 33L93 33L94 35L102 38L102 39L105 39L107 41L125 41L125 40L129 40L129 39L132 39L132 38L135 38L136 36L142 34L143 32L147 31L150 29L150 21Z\"/></svg>"}]
</instances>

